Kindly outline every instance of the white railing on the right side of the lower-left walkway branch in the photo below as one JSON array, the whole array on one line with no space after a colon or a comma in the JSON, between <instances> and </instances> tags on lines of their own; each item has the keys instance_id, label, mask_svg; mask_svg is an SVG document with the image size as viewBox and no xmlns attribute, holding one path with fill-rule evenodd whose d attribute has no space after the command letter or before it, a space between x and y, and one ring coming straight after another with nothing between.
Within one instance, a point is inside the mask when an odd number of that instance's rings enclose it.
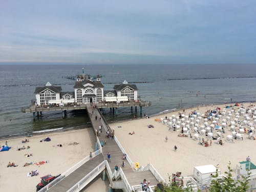
<instances>
[{"instance_id":1,"label":"white railing on the right side of the lower-left walkway branch","mask_svg":"<svg viewBox=\"0 0 256 192\"><path fill-rule=\"evenodd\" d=\"M77 182L67 192L74 192L76 190L80 191L80 189L85 187L88 183L90 183L97 175L99 175L105 169L105 165L106 165L106 160L102 161L89 174L87 174L86 177L82 178L79 182Z\"/></svg>"}]
</instances>

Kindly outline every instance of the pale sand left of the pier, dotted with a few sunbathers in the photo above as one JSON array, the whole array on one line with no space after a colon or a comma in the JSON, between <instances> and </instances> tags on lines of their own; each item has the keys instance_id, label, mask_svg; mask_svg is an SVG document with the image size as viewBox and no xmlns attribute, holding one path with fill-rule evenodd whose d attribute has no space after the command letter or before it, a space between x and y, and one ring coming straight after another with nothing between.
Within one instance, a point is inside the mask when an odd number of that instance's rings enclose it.
<instances>
[{"instance_id":1,"label":"pale sand left of the pier, dotted with a few sunbathers","mask_svg":"<svg viewBox=\"0 0 256 192\"><path fill-rule=\"evenodd\" d=\"M50 137L50 142L39 142ZM0 152L0 188L1 191L35 191L40 177L51 174L58 175L79 162L90 152L94 151L95 141L92 129L72 130L44 135L37 135L29 138L29 142L22 143L25 138L7 140L12 146L8 152ZM69 145L71 142L78 142L77 145ZM56 146L57 143L62 147ZM5 141L0 141L1 146ZM17 151L17 147L28 145L27 150ZM32 157L25 157L25 154L32 153ZM8 162L15 162L17 167L7 167ZM24 167L26 162L49 161L43 165L32 164ZM37 169L39 176L27 177L27 173Z\"/></svg>"}]
</instances>

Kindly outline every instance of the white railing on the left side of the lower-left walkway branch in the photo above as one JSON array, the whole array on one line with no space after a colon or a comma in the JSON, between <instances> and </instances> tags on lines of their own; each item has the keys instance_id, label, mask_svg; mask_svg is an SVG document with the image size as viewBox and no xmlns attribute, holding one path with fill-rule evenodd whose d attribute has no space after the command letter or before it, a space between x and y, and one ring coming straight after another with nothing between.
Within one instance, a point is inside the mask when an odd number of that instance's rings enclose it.
<instances>
[{"instance_id":1,"label":"white railing on the left side of the lower-left walkway branch","mask_svg":"<svg viewBox=\"0 0 256 192\"><path fill-rule=\"evenodd\" d=\"M100 145L101 146L101 145ZM102 153L102 148L100 147L98 151L92 153L93 157L96 157L98 154ZM83 158L81 161L79 161L78 163L76 163L74 166L72 166L71 168L69 168L68 170L66 170L66 172L64 172L63 174L61 174L57 179L53 180L51 183L49 183L48 185L46 185L44 188L41 188L39 190L39 192L45 192L48 189L50 189L51 187L53 187L54 185L56 185L59 181L63 180L64 178L66 178L67 176L69 176L71 173L73 173L77 168L79 168L81 165L83 165L84 163L86 163L87 161L90 160L90 155L86 156L85 158Z\"/></svg>"}]
</instances>

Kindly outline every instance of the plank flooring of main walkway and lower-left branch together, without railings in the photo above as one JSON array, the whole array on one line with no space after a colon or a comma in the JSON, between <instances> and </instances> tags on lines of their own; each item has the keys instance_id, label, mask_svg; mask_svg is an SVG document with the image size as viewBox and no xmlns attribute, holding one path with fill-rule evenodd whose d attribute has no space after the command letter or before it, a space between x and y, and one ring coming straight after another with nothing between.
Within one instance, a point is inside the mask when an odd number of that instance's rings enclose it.
<instances>
[{"instance_id":1,"label":"plank flooring of main walkway and lower-left branch together, without railings","mask_svg":"<svg viewBox=\"0 0 256 192\"><path fill-rule=\"evenodd\" d=\"M71 173L65 179L58 182L52 188L50 188L48 190L50 192L62 192L62 191L65 192L69 190L76 183L78 183L82 178L88 175L102 161L104 161L105 159L108 159L107 157L108 153L111 154L111 162L109 162L109 165L111 167L112 172L114 172L115 165L117 165L118 167L121 167L123 153L114 139L106 138L107 129L106 129L106 125L104 124L104 121L100 119L101 117L100 113L98 112L98 110L93 110L90 104L87 105L87 111L89 116L93 111L93 115L90 119L91 119L91 123L92 123L95 135L97 133L96 130L99 130L99 126L100 125L103 126L102 133L100 135L98 134L99 140L103 142L102 153L94 157L91 161L84 163L79 168L74 170L73 173ZM96 116L97 116L97 119L95 118ZM106 144L105 144L105 141L106 141ZM96 142L96 136L95 136L95 142ZM143 179L146 179L147 181L151 181L151 185L156 185L158 183L155 176L149 170L144 172L134 172L134 169L130 166L130 164L126 160L125 160L125 166L122 167L122 170L131 186L139 185L141 181L143 181Z\"/></svg>"}]
</instances>

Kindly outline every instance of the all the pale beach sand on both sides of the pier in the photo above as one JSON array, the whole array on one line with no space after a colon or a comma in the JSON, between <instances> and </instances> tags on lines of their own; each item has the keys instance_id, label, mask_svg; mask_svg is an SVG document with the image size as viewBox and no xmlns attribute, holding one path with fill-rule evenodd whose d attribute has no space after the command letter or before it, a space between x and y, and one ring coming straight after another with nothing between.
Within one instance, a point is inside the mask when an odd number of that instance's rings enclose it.
<instances>
[{"instance_id":1,"label":"all the pale beach sand on both sides of the pier","mask_svg":"<svg viewBox=\"0 0 256 192\"><path fill-rule=\"evenodd\" d=\"M245 103L244 106L248 106ZM225 105L218 105L221 109ZM216 108L214 105L203 106L198 108L186 109L188 114L196 110L201 114L207 109ZM230 108L231 109L231 108ZM229 109L229 110L230 110ZM234 107L238 109L238 107ZM228 110L228 109L226 109ZM181 112L181 111L180 111ZM231 167L235 168L239 161L244 161L249 155L252 162L256 162L256 156L253 153L256 141L248 139L244 135L243 141L234 140L234 143L226 142L225 138L231 132L226 129L224 134L224 145L218 145L216 140L209 147L204 147L198 141L188 137L178 137L180 132L168 131L167 125L156 122L155 118L170 117L173 114L178 115L179 111L162 114L149 119L136 119L111 124L115 129L115 135L121 142L127 155L134 162L146 166L148 163L153 164L164 179L168 179L168 174L177 171L182 172L183 176L193 175L194 166L213 164L218 165L221 173L224 173L228 162ZM154 129L148 129L147 125L153 124ZM121 125L121 128L117 126ZM135 131L135 135L129 135L129 132ZM192 133L194 135L194 133ZM168 141L165 142L165 136ZM50 137L50 142L39 142L46 137ZM57 175L65 172L72 165L79 162L82 158L94 151L94 134L92 129L72 130L68 132L58 132L44 135L37 135L29 138L29 142L22 143L25 138L9 139L8 145L12 148L8 152L0 152L0 186L1 191L35 191L36 184L40 177L47 174ZM69 143L79 142L77 145ZM57 143L62 147L56 146ZM0 141L1 145L5 144ZM17 147L28 145L27 150L17 151ZM174 151L174 145L178 150ZM25 157L25 154L32 153L32 157ZM7 167L8 162L15 162L17 167ZM44 165L35 164L24 167L26 162L49 161ZM37 169L39 176L27 177L27 173ZM108 191L109 182L103 182L100 177L90 184L84 191Z\"/></svg>"}]
</instances>

